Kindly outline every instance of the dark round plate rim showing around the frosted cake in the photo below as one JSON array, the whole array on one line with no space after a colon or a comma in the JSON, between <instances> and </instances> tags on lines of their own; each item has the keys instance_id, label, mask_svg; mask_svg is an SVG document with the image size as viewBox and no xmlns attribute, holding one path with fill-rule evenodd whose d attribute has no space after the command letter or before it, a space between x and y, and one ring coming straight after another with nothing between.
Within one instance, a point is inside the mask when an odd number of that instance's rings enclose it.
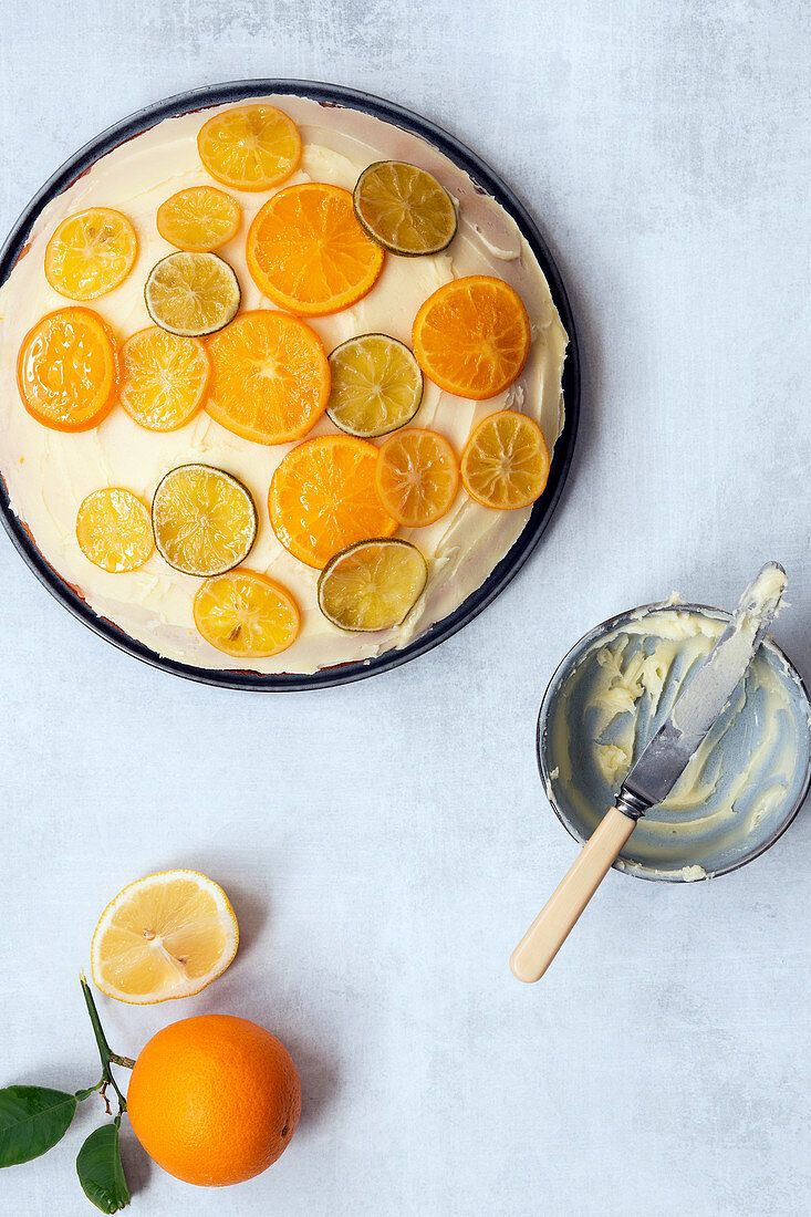
<instances>
[{"instance_id":1,"label":"dark round plate rim showing around the frosted cake","mask_svg":"<svg viewBox=\"0 0 811 1217\"><path fill-rule=\"evenodd\" d=\"M185 677L189 680L197 680L205 684L219 685L230 689L256 689L262 691L285 691L323 689L329 685L348 684L353 680L362 680L367 677L387 672L399 667L409 660L424 655L432 647L438 646L446 639L455 634L457 630L466 626L474 617L479 616L483 608L491 604L496 596L503 591L511 578L524 566L527 557L538 544L541 535L549 522L569 473L575 438L577 434L577 422L580 417L580 359L577 350L577 335L566 291L563 280L552 258L552 254L538 231L535 220L514 195L502 178L491 169L470 148L449 135L441 127L435 125L419 114L395 102L382 97L375 97L354 89L346 89L340 85L321 84L313 80L233 80L226 84L211 85L202 89L192 89L189 92L167 97L152 106L139 110L129 118L107 128L95 139L79 148L61 169L49 178L41 190L32 198L22 215L13 225L9 237L0 249L0 284L11 274L11 270L19 258L28 235L43 211L43 208L56 198L63 190L71 186L77 178L85 173L105 153L118 147L121 144L140 135L141 131L155 127L164 118L175 118L188 114L195 110L207 106L219 106L228 102L241 102L251 97L267 94L291 95L308 97L329 107L345 107L347 110L362 111L374 118L382 119L395 127L399 127L414 135L421 136L434 145L449 161L463 169L472 179L477 190L491 195L508 215L518 225L521 235L537 258L543 270L552 298L560 314L563 325L569 335L569 347L563 372L563 393L565 402L565 424L563 432L555 444L552 459L549 481L543 495L532 507L532 514L521 535L515 542L510 551L502 559L492 571L485 583L481 584L468 599L459 605L454 612L442 621L436 622L426 629L419 638L409 643L402 650L386 651L363 662L343 663L308 675L300 674L274 674L263 675L257 672L246 671L220 671L213 668L198 668L191 664L179 663L174 660L164 658L151 651L147 646L135 639L129 638L112 622L106 621L90 608L74 588L68 585L56 571L44 560L24 525L18 520L11 509L5 481L0 477L0 520L9 533L12 543L28 563L34 574L47 588L56 599L68 608L74 617L84 622L108 643L127 651L128 655L169 672L174 675Z\"/></svg>"}]
</instances>

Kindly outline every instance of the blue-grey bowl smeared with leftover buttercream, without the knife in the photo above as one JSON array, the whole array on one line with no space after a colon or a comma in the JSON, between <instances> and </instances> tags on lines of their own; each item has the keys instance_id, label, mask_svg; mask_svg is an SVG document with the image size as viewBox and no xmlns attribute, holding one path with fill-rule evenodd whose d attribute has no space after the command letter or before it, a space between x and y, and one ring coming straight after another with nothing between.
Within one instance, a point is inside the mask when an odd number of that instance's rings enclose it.
<instances>
[{"instance_id":1,"label":"blue-grey bowl smeared with leftover buttercream, without the knife","mask_svg":"<svg viewBox=\"0 0 811 1217\"><path fill-rule=\"evenodd\" d=\"M637 608L574 647L547 690L538 755L547 795L592 835L645 744L729 616L695 605ZM690 881L734 870L790 823L809 783L805 688L767 636L667 798L638 821L616 867Z\"/></svg>"}]
</instances>

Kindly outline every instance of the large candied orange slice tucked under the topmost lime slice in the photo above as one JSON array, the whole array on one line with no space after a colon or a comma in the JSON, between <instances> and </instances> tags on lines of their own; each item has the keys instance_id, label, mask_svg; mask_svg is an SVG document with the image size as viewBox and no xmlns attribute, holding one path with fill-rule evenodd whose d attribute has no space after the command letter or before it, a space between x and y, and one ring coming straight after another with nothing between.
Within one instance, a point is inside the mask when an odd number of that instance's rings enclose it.
<instances>
[{"instance_id":1,"label":"large candied orange slice tucked under the topmost lime slice","mask_svg":"<svg viewBox=\"0 0 811 1217\"><path fill-rule=\"evenodd\" d=\"M304 316L354 304L374 287L385 258L358 224L349 191L320 181L269 198L253 218L246 254L259 291Z\"/></svg>"}]
</instances>

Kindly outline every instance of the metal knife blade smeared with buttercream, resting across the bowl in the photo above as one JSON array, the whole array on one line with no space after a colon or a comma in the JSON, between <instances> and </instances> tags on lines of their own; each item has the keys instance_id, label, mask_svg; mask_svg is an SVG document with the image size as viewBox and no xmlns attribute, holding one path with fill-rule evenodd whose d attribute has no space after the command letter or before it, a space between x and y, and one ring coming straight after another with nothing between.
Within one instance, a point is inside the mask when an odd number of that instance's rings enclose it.
<instances>
[{"instance_id":1,"label":"metal knife blade smeared with buttercream, resting across the bowl","mask_svg":"<svg viewBox=\"0 0 811 1217\"><path fill-rule=\"evenodd\" d=\"M626 815L638 819L673 789L743 679L785 583L783 567L767 562L749 584L723 634L622 783L616 806Z\"/></svg>"}]
</instances>

